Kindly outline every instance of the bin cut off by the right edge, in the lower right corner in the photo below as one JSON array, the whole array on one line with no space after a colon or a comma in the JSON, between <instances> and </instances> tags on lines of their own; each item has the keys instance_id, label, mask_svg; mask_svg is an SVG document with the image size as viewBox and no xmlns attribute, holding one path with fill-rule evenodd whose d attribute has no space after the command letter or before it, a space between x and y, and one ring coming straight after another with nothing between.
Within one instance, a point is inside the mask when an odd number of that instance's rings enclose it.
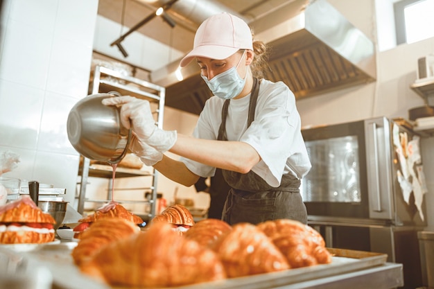
<instances>
[{"instance_id":1,"label":"bin cut off by the right edge, in the lower right corner","mask_svg":"<svg viewBox=\"0 0 434 289\"><path fill-rule=\"evenodd\" d=\"M434 231L418 231L422 284L434 288Z\"/></svg>"}]
</instances>

